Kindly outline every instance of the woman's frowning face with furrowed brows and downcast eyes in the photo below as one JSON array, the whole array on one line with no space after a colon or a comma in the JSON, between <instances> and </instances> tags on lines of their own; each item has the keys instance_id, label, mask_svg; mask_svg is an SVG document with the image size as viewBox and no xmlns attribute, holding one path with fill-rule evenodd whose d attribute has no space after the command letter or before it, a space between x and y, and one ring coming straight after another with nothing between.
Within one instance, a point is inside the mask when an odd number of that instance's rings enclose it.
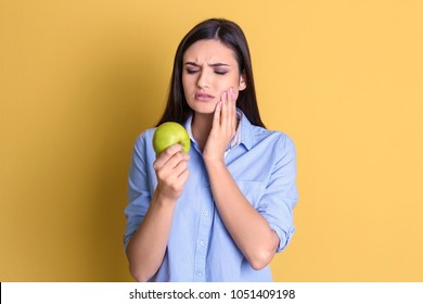
<instances>
[{"instance_id":1,"label":"woman's frowning face with furrowed brows and downcast eyes","mask_svg":"<svg viewBox=\"0 0 423 304\"><path fill-rule=\"evenodd\" d=\"M183 54L182 86L188 105L211 114L223 91L231 87L238 98L245 89L234 52L219 40L198 40Z\"/></svg>"}]
</instances>

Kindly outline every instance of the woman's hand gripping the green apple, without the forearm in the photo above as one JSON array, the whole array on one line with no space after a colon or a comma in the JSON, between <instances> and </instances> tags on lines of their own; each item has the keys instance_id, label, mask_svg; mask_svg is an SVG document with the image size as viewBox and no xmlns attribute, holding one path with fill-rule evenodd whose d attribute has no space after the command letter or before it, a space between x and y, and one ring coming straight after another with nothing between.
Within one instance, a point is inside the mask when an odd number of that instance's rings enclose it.
<instances>
[{"instance_id":1,"label":"woman's hand gripping the green apple, without the forearm","mask_svg":"<svg viewBox=\"0 0 423 304\"><path fill-rule=\"evenodd\" d=\"M190 154L183 153L180 144L174 144L157 155L153 164L157 176L155 194L174 202L179 199L188 180L189 160Z\"/></svg>"}]
</instances>

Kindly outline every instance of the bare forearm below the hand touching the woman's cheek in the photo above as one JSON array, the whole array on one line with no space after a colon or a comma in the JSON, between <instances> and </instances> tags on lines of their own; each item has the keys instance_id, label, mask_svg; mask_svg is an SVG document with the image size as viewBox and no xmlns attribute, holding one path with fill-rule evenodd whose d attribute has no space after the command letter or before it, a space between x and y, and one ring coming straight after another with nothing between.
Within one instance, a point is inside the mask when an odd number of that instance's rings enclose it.
<instances>
[{"instance_id":1,"label":"bare forearm below the hand touching the woman's cheek","mask_svg":"<svg viewBox=\"0 0 423 304\"><path fill-rule=\"evenodd\" d=\"M206 162L206 166L216 206L232 239L253 268L265 267L277 251L278 236L246 200L225 163Z\"/></svg>"}]
</instances>

